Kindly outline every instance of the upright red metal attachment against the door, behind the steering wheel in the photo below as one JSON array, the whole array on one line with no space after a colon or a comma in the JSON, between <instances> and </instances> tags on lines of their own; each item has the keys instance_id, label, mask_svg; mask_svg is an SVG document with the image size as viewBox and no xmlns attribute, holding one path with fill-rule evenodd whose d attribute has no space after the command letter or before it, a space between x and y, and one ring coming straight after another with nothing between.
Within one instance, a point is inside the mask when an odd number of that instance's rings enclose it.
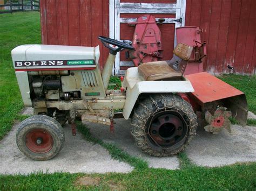
<instances>
[{"instance_id":1,"label":"upright red metal attachment against the door, behind the steering wheel","mask_svg":"<svg viewBox=\"0 0 256 191\"><path fill-rule=\"evenodd\" d=\"M129 23L129 25L136 26L132 40L135 50L126 52L126 58L131 58L136 67L141 63L162 59L161 32L156 18L152 15L144 15L139 17L137 22Z\"/></svg>"}]
</instances>

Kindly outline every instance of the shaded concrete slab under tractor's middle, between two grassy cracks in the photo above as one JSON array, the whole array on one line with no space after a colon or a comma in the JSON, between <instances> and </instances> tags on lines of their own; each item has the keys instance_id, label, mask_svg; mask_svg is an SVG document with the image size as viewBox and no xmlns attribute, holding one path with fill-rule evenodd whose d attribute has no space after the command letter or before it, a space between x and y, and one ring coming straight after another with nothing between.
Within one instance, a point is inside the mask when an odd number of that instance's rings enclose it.
<instances>
[{"instance_id":1,"label":"shaded concrete slab under tractor's middle, between two grassy cracks","mask_svg":"<svg viewBox=\"0 0 256 191\"><path fill-rule=\"evenodd\" d=\"M114 133L111 133L109 126L106 125L93 123L86 123L86 125L93 136L104 140L104 142L113 143L131 155L143 158L149 162L149 166L152 168L177 169L179 167L177 156L158 158L143 153L136 146L130 133L130 120L114 119L114 122L116 122L114 124Z\"/></svg>"}]
</instances>

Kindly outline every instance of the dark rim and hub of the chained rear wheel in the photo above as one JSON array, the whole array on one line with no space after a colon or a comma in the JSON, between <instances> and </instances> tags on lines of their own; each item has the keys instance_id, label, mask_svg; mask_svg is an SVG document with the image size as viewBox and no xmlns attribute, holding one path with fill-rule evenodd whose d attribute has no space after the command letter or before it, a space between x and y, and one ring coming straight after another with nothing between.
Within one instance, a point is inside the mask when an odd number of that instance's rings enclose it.
<instances>
[{"instance_id":1,"label":"dark rim and hub of the chained rear wheel","mask_svg":"<svg viewBox=\"0 0 256 191\"><path fill-rule=\"evenodd\" d=\"M163 111L153 116L147 135L156 146L169 147L184 138L187 125L177 112Z\"/></svg>"}]
</instances>

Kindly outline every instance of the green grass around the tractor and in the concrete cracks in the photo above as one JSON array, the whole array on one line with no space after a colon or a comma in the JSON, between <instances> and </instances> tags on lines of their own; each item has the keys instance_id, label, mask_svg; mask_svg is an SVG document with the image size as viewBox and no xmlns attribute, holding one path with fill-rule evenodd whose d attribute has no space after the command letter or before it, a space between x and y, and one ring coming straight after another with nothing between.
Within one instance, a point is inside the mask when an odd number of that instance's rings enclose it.
<instances>
[{"instance_id":1,"label":"green grass around the tractor and in the concrete cracks","mask_svg":"<svg viewBox=\"0 0 256 191\"><path fill-rule=\"evenodd\" d=\"M18 115L23 103L12 67L10 51L21 44L40 44L38 12L0 15L0 139L11 129L14 120L28 116ZM221 79L244 91L251 111L255 113L255 76L223 75ZM118 83L112 77L110 83ZM113 85L114 87L115 85ZM110 88L113 88L110 87ZM248 124L255 125L254 120ZM207 168L194 165L185 153L178 155L180 169L152 169L140 158L133 157L117 146L93 137L82 124L78 129L84 138L99 144L110 152L112 158L134 167L131 173L32 173L30 175L0 175L0 190L72 190L72 189L129 189L129 190L255 190L256 163L235 164ZM90 176L99 180L96 186L83 187L76 180Z\"/></svg>"}]
</instances>

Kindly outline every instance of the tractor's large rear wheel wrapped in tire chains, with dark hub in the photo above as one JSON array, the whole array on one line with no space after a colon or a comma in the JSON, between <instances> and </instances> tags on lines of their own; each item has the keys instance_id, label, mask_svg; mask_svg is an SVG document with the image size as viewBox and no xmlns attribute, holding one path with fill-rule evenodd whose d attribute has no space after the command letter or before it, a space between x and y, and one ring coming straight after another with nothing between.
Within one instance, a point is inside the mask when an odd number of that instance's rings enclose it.
<instances>
[{"instance_id":1,"label":"tractor's large rear wheel wrapped in tire chains, with dark hub","mask_svg":"<svg viewBox=\"0 0 256 191\"><path fill-rule=\"evenodd\" d=\"M134 109L131 133L143 152L157 157L177 154L196 135L197 116L178 95L157 94Z\"/></svg>"}]
</instances>

